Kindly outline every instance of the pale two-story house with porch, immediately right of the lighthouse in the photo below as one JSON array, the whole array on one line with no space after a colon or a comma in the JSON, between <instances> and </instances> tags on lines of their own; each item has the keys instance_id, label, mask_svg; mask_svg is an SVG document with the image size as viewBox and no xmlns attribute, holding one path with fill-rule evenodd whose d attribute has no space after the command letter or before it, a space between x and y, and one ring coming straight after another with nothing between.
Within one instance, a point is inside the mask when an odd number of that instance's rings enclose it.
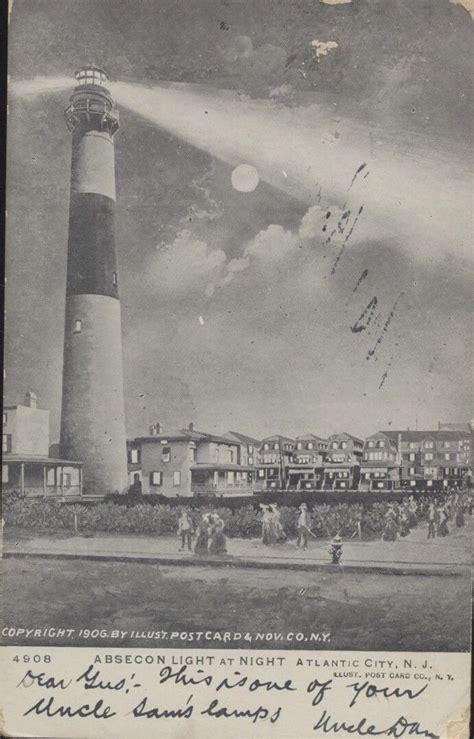
<instances>
[{"instance_id":1,"label":"pale two-story house with porch, immediately right of the lighthouse","mask_svg":"<svg viewBox=\"0 0 474 739\"><path fill-rule=\"evenodd\" d=\"M240 462L241 445L226 436L194 429L165 431L128 442L130 483L144 494L252 495L255 466Z\"/></svg>"}]
</instances>

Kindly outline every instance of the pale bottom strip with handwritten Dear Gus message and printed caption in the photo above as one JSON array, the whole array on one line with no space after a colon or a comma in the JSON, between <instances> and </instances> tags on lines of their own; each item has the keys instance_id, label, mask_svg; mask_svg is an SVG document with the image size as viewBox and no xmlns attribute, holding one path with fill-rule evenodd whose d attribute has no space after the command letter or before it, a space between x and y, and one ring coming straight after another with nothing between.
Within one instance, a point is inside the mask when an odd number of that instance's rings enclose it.
<instances>
[{"instance_id":1,"label":"pale bottom strip with handwritten Dear Gus message and printed caption","mask_svg":"<svg viewBox=\"0 0 474 739\"><path fill-rule=\"evenodd\" d=\"M189 724L203 737L443 739L469 669L467 655L14 647L2 654L5 728L34 726L44 736L178 737Z\"/></svg>"}]
</instances>

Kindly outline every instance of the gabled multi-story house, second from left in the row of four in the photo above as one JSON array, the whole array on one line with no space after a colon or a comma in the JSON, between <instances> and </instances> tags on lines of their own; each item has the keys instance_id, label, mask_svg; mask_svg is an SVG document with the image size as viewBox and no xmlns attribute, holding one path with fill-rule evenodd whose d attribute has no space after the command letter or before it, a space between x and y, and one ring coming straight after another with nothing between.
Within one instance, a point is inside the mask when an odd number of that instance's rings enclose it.
<instances>
[{"instance_id":1,"label":"gabled multi-story house, second from left in the row of four","mask_svg":"<svg viewBox=\"0 0 474 739\"><path fill-rule=\"evenodd\" d=\"M294 459L288 468L290 489L321 490L327 446L327 440L315 434L296 437Z\"/></svg>"}]
</instances>

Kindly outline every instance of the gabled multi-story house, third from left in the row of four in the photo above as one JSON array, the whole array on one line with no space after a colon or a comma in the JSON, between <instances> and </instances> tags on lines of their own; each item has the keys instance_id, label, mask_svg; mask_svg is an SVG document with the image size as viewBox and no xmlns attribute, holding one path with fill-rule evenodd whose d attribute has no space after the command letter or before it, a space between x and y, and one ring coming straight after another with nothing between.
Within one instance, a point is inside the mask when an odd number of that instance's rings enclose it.
<instances>
[{"instance_id":1,"label":"gabled multi-story house, third from left in the row of four","mask_svg":"<svg viewBox=\"0 0 474 739\"><path fill-rule=\"evenodd\" d=\"M364 442L346 432L328 439L323 490L355 490L359 486Z\"/></svg>"}]
</instances>

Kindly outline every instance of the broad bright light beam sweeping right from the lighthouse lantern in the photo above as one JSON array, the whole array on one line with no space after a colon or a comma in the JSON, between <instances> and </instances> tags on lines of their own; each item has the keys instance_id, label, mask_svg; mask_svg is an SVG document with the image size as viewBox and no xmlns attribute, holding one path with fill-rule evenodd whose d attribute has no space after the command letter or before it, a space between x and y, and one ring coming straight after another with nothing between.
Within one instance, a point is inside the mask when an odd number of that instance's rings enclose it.
<instances>
[{"instance_id":1,"label":"broad bright light beam sweeping right from the lighthouse lantern","mask_svg":"<svg viewBox=\"0 0 474 739\"><path fill-rule=\"evenodd\" d=\"M415 259L471 257L472 179L462 160L435 161L410 140L402 155L318 105L287 108L180 83L115 82L111 89L122 106L232 167L253 165L292 197L312 205L322 192L325 207L355 212L364 205L359 239L396 240Z\"/></svg>"}]
</instances>

